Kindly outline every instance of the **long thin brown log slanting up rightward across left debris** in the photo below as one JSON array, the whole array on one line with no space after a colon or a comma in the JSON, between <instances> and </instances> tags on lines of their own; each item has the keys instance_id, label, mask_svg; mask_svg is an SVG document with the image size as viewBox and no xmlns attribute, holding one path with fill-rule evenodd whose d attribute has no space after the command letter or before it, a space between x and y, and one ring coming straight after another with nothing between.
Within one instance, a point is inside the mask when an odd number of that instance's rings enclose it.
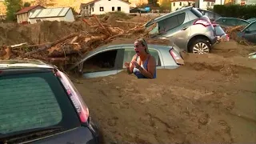
<instances>
[{"instance_id":1,"label":"long thin brown log slanting up rightward across left debris","mask_svg":"<svg viewBox=\"0 0 256 144\"><path fill-rule=\"evenodd\" d=\"M57 45L58 43L64 42L64 41L66 41L67 39L73 38L73 37L78 36L78 35L79 35L79 34L77 34L77 33L75 33L75 34L70 34L69 36L67 36L67 37L65 37L65 38L62 38L62 39L60 39L60 40L58 40L58 41L56 41L56 42L52 42L52 43L50 43L50 44L46 44L45 46L42 46L42 47L38 48L37 50L33 50L33 51L30 51L30 52L27 52L26 54L24 54L24 56L27 57L27 56L29 56L29 55L31 55L31 54L38 53L38 52L43 51L43 50L48 50L48 49L50 49L50 47L55 46L55 45Z\"/></svg>"}]
</instances>

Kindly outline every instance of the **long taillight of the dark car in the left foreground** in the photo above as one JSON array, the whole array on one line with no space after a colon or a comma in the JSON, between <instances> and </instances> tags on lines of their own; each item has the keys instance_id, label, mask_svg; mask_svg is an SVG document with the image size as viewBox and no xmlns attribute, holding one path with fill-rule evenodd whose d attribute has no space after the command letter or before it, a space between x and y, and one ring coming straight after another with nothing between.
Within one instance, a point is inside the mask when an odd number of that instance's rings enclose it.
<instances>
[{"instance_id":1,"label":"long taillight of the dark car in the left foreground","mask_svg":"<svg viewBox=\"0 0 256 144\"><path fill-rule=\"evenodd\" d=\"M61 71L57 71L54 74L58 78L60 78L63 86L66 89L66 93L70 96L70 99L73 102L74 107L79 114L80 121L87 122L90 116L89 109L86 106L85 102L83 101L82 96L78 93L78 90L76 90L73 83L66 76L66 74L63 74Z\"/></svg>"}]
</instances>

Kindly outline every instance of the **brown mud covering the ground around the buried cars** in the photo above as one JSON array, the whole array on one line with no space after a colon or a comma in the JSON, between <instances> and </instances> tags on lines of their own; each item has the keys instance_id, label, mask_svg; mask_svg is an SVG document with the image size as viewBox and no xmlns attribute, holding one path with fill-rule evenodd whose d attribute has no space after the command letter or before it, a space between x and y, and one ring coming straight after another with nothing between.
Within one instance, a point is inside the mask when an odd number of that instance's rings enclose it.
<instances>
[{"instance_id":1,"label":"brown mud covering the ground around the buried cars","mask_svg":"<svg viewBox=\"0 0 256 144\"><path fill-rule=\"evenodd\" d=\"M256 64L245 58L254 50L222 42L154 80L122 72L75 86L104 143L255 143Z\"/></svg>"}]
</instances>

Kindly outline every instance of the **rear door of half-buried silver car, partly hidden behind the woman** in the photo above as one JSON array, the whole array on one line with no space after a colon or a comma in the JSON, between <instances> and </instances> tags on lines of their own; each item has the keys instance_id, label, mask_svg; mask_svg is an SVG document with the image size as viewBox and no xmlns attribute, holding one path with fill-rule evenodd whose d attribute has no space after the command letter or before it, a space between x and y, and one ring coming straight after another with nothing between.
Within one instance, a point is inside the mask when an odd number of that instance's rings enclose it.
<instances>
[{"instance_id":1,"label":"rear door of half-buried silver car, partly hidden behind the woman","mask_svg":"<svg viewBox=\"0 0 256 144\"><path fill-rule=\"evenodd\" d=\"M149 46L150 54L155 58L157 69L164 68L163 65L163 59L162 55L159 50L154 49L153 47ZM125 62L130 62L131 59L134 57L135 51L133 46L125 46L123 47L122 54L120 54L120 58L122 57L122 65L118 65L118 72L121 72L122 70L126 69L126 66L124 66ZM122 56L121 56L122 55Z\"/></svg>"}]
</instances>

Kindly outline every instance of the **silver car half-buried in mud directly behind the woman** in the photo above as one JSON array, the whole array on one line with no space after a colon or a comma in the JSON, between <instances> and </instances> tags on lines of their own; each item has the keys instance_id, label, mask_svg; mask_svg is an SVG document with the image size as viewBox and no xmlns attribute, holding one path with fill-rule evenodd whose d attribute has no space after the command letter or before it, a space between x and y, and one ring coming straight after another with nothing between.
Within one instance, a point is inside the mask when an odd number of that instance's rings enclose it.
<instances>
[{"instance_id":1,"label":"silver car half-buried in mud directly behind the woman","mask_svg":"<svg viewBox=\"0 0 256 144\"><path fill-rule=\"evenodd\" d=\"M112 43L90 51L70 69L78 67L78 71L84 78L118 74L126 68L124 63L130 62L134 54L136 54L134 42L130 40ZM156 60L157 69L176 69L184 64L180 54L182 50L174 44L172 46L148 44L148 49Z\"/></svg>"}]
</instances>

